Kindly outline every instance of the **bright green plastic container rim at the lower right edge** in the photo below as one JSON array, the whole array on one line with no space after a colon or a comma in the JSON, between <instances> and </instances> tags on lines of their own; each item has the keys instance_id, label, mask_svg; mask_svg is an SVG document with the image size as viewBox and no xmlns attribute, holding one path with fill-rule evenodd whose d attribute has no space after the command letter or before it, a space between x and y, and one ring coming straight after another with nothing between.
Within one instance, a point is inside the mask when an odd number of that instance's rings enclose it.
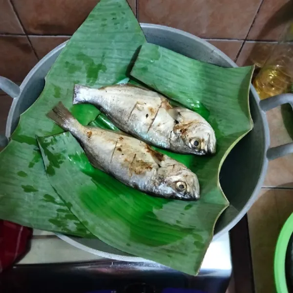
<instances>
[{"instance_id":1,"label":"bright green plastic container rim at the lower right edge","mask_svg":"<svg viewBox=\"0 0 293 293\"><path fill-rule=\"evenodd\" d=\"M274 278L277 293L289 293L286 281L286 253L293 234L293 213L284 224L278 237L274 255Z\"/></svg>"}]
</instances>

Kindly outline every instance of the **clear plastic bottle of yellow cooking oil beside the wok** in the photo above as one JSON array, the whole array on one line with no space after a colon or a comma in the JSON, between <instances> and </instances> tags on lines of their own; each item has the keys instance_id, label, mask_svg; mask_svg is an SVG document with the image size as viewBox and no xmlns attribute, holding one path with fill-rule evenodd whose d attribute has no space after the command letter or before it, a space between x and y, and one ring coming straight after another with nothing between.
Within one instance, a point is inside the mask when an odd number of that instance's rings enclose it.
<instances>
[{"instance_id":1,"label":"clear plastic bottle of yellow cooking oil beside the wok","mask_svg":"<svg viewBox=\"0 0 293 293\"><path fill-rule=\"evenodd\" d=\"M291 91L293 83L293 22L255 77L253 85L261 100Z\"/></svg>"}]
</instances>

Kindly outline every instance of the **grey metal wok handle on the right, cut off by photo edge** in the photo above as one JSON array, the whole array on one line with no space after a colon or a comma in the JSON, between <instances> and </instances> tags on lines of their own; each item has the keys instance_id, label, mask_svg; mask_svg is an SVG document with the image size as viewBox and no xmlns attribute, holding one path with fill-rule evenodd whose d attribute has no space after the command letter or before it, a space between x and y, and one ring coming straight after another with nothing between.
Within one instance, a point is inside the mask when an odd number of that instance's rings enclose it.
<instances>
[{"instance_id":1,"label":"grey metal wok handle on the right, cut off by photo edge","mask_svg":"<svg viewBox=\"0 0 293 293\"><path fill-rule=\"evenodd\" d=\"M259 105L261 109L266 112L287 103L293 108L293 94L280 94L260 101ZM293 143L269 148L267 151L267 157L269 160L274 160L291 153L293 153Z\"/></svg>"}]
</instances>

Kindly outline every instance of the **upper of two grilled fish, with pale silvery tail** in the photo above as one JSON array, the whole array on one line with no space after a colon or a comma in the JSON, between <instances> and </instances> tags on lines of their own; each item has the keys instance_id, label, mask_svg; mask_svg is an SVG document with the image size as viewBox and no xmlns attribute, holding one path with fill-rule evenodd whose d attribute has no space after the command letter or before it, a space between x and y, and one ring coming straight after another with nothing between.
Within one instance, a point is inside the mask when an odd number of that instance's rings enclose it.
<instances>
[{"instance_id":1,"label":"upper of two grilled fish, with pale silvery tail","mask_svg":"<svg viewBox=\"0 0 293 293\"><path fill-rule=\"evenodd\" d=\"M150 145L196 155L216 151L209 123L189 109L172 107L157 92L132 84L99 89L75 85L73 104L81 103L97 106L121 130Z\"/></svg>"}]
</instances>

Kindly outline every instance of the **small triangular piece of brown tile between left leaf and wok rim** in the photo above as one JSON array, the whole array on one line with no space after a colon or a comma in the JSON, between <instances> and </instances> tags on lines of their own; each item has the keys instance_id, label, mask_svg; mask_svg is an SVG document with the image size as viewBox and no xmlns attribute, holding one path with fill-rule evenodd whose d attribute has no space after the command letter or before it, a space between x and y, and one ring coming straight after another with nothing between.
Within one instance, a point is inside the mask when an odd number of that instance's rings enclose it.
<instances>
[{"instance_id":1,"label":"small triangular piece of brown tile between left leaf and wok rim","mask_svg":"<svg viewBox=\"0 0 293 293\"><path fill-rule=\"evenodd\" d=\"M70 37L53 37L53 36L29 36L32 46L39 59L42 59L51 50L61 43L70 39Z\"/></svg>"}]
</instances>

